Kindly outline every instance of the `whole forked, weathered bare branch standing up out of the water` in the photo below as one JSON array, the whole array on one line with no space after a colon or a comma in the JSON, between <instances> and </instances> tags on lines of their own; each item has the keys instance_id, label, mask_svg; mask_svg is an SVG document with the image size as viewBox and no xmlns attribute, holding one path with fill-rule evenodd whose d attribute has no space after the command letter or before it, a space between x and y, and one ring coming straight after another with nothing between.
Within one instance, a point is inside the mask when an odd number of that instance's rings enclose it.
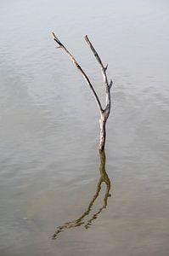
<instances>
[{"instance_id":1,"label":"whole forked, weathered bare branch standing up out of the water","mask_svg":"<svg viewBox=\"0 0 169 256\"><path fill-rule=\"evenodd\" d=\"M111 107L111 99L110 99L110 88L113 84L112 80L110 82L108 81L106 70L107 66L104 67L103 62L101 61L96 49L94 49L93 44L90 42L90 40L85 36L85 40L87 44L89 45L90 49L93 51L93 55L95 56L96 60L99 62L99 66L101 67L103 79L104 79L104 86L105 86L105 108L102 108L101 102L99 101L99 96L97 95L96 91L93 88L93 84L90 82L90 79L88 79L87 74L83 71L82 67L79 65L79 63L76 61L73 55L70 54L70 51L65 48L65 45L62 44L59 41L59 38L57 38L53 32L54 41L59 45L58 48L63 49L65 51L65 54L70 57L70 60L73 61L76 68L82 73L83 78L86 80L87 84L89 85L89 88L93 92L93 96L95 98L95 101L99 108L100 113L100 119L99 119L99 126L100 126L100 138L99 138L99 151L104 150L105 145L105 138L106 138L106 130L105 130L105 124L106 121L110 115L110 107Z\"/></svg>"}]
</instances>

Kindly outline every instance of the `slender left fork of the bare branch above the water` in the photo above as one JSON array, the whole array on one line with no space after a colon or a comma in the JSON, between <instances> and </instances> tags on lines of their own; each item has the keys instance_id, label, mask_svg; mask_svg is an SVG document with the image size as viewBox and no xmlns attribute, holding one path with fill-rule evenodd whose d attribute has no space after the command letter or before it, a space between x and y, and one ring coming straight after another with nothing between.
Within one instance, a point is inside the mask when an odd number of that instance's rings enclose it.
<instances>
[{"instance_id":1,"label":"slender left fork of the bare branch above the water","mask_svg":"<svg viewBox=\"0 0 169 256\"><path fill-rule=\"evenodd\" d=\"M82 73L83 78L86 80L87 84L89 85L90 89L93 92L93 96L95 98L95 101L97 102L98 108L100 113L103 113L103 108L101 106L101 103L99 101L99 96L97 95L96 91L93 89L93 85L91 84L90 80L87 77L87 74L83 71L82 67L78 64L78 62L76 61L76 59L74 58L73 55L70 54L69 50L65 48L65 45L62 44L59 41L59 38L57 38L53 32L53 36L54 36L54 41L59 44L59 48L62 48L65 50L65 53L70 57L70 60L73 61L73 63L75 64L76 68Z\"/></svg>"}]
</instances>

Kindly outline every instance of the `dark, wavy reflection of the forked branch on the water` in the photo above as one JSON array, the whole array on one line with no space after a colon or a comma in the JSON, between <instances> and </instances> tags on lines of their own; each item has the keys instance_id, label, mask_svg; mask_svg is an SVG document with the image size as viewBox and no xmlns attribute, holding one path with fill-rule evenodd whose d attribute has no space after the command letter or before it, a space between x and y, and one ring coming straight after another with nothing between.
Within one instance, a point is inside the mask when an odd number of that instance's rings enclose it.
<instances>
[{"instance_id":1,"label":"dark, wavy reflection of the forked branch on the water","mask_svg":"<svg viewBox=\"0 0 169 256\"><path fill-rule=\"evenodd\" d=\"M87 210L85 212L83 212L82 215L79 218L76 218L75 220L66 222L65 224L60 225L59 227L57 227L56 231L54 232L54 235L52 236L53 239L56 239L59 236L59 233L63 232L66 229L75 228L75 227L78 227L78 226L81 226L81 225L83 225L86 229L88 229L91 226L93 220L98 218L99 214L103 211L103 209L105 209L107 207L108 197L111 196L110 195L111 183L110 183L110 178L109 178L107 172L105 171L106 158L105 158L104 150L99 151L99 155L100 155L100 166L99 166L100 177L99 177L99 182L97 183L96 192L93 195L93 198L90 201L90 203L87 207ZM87 221L84 221L84 218L91 212L94 201L96 201L96 199L99 196L99 192L101 191L102 183L105 183L105 185L106 185L102 207L99 208L98 212L93 214L92 218L89 218Z\"/></svg>"}]
</instances>

